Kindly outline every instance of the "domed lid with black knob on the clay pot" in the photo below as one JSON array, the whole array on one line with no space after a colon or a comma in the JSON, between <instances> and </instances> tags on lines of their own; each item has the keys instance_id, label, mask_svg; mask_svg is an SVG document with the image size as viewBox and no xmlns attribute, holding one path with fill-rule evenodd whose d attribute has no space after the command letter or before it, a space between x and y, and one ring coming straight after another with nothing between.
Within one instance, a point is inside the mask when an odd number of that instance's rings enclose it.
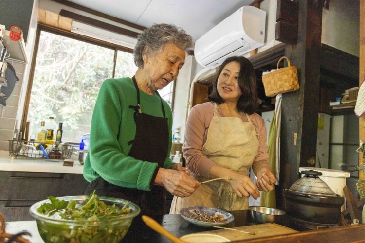
<instances>
[{"instance_id":1,"label":"domed lid with black knob on the clay pot","mask_svg":"<svg viewBox=\"0 0 365 243\"><path fill-rule=\"evenodd\" d=\"M309 170L302 171L301 173L305 176L297 180L289 188L289 191L300 194L336 196L329 185L318 177L322 175L321 172Z\"/></svg>"}]
</instances>

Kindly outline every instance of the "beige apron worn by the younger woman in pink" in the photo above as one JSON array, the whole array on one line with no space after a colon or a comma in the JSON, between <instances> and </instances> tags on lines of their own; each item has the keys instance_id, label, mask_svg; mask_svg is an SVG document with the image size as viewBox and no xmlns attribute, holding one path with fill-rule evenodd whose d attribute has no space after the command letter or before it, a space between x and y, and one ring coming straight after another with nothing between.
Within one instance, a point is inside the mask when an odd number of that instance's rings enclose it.
<instances>
[{"instance_id":1,"label":"beige apron worn by the younger woman in pink","mask_svg":"<svg viewBox=\"0 0 365 243\"><path fill-rule=\"evenodd\" d=\"M220 117L214 103L214 116L202 149L202 153L217 165L244 175L254 162L259 147L255 127L247 114L246 117L248 122L238 117ZM191 177L197 181L207 180L194 173ZM217 180L202 184L189 197L174 196L170 214L179 213L181 208L189 206L243 210L248 209L248 198L237 197L228 183Z\"/></svg>"}]
</instances>

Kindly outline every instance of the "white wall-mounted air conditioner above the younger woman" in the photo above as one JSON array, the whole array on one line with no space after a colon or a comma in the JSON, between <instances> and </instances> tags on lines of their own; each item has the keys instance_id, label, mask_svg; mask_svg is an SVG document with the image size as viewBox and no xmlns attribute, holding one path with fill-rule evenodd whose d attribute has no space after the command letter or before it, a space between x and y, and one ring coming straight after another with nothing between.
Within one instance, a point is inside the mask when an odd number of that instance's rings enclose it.
<instances>
[{"instance_id":1,"label":"white wall-mounted air conditioner above the younger woman","mask_svg":"<svg viewBox=\"0 0 365 243\"><path fill-rule=\"evenodd\" d=\"M195 59L203 67L213 69L227 57L241 56L262 46L265 20L265 11L241 7L195 42Z\"/></svg>"}]
</instances>

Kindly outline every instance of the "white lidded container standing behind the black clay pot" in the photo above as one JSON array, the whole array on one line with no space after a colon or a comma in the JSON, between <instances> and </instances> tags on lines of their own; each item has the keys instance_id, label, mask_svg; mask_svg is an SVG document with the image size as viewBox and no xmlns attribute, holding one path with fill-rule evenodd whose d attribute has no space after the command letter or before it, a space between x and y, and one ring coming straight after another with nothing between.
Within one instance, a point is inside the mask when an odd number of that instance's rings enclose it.
<instances>
[{"instance_id":1,"label":"white lidded container standing behind the black clay pot","mask_svg":"<svg viewBox=\"0 0 365 243\"><path fill-rule=\"evenodd\" d=\"M318 176L321 180L326 182L327 185L332 189L332 191L340 196L344 196L344 187L346 186L346 178L350 177L350 173L346 171L325 169L325 168L316 168L316 167L299 167L299 173L302 171L318 171L322 172L322 175ZM302 174L302 177L304 174ZM341 207L341 211L345 210L345 203Z\"/></svg>"}]
</instances>

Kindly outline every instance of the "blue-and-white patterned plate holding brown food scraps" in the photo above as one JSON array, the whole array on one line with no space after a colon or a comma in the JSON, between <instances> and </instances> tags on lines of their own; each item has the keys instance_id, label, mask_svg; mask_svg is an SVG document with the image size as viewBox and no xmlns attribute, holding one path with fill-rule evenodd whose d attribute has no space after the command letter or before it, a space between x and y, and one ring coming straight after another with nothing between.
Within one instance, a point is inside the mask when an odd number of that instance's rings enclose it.
<instances>
[{"instance_id":1,"label":"blue-and-white patterned plate holding brown food scraps","mask_svg":"<svg viewBox=\"0 0 365 243\"><path fill-rule=\"evenodd\" d=\"M192 219L191 217L194 216L194 214L192 212L190 212L190 210L200 210L201 213L204 213L206 215L209 216L216 216L218 214L222 215L224 219L226 219L226 221L223 222L204 222L204 221L200 221L197 219ZM204 206L193 206L193 207L186 207L186 208L182 208L180 210L180 215L188 222L196 225L196 226L201 226L201 227L213 227L213 226L224 226L227 225L228 223L231 223L235 217L233 217L232 214L230 214L229 212L220 210L218 208L210 208L210 207L204 207Z\"/></svg>"}]
</instances>

